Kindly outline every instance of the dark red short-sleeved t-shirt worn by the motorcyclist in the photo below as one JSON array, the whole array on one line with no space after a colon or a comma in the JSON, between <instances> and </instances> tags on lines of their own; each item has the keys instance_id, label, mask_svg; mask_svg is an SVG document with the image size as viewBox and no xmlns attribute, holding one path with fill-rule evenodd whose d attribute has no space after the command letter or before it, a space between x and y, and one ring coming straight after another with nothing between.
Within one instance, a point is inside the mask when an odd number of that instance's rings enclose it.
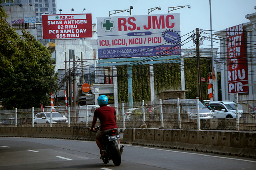
<instances>
[{"instance_id":1,"label":"dark red short-sleeved t-shirt worn by the motorcyclist","mask_svg":"<svg viewBox=\"0 0 256 170\"><path fill-rule=\"evenodd\" d=\"M94 111L94 117L100 119L100 130L118 128L115 121L116 110L111 106L102 106Z\"/></svg>"}]
</instances>

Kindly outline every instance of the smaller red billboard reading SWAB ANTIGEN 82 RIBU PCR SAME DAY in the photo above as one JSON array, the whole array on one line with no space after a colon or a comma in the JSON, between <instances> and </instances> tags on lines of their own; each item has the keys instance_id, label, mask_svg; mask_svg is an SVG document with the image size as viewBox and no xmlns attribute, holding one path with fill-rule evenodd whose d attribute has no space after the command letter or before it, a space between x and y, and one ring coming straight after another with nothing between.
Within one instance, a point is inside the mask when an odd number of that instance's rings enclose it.
<instances>
[{"instance_id":1,"label":"smaller red billboard reading SWAB ANTIGEN 82 RIBU PCR SAME DAY","mask_svg":"<svg viewBox=\"0 0 256 170\"><path fill-rule=\"evenodd\" d=\"M43 39L92 37L92 14L42 15Z\"/></svg>"}]
</instances>

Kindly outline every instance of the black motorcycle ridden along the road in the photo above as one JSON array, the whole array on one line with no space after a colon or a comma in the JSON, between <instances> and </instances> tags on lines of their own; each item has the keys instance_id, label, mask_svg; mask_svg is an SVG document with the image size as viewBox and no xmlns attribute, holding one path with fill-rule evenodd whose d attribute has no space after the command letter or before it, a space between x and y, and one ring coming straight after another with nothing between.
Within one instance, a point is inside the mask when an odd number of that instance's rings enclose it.
<instances>
[{"instance_id":1,"label":"black motorcycle ridden along the road","mask_svg":"<svg viewBox=\"0 0 256 170\"><path fill-rule=\"evenodd\" d=\"M95 127L95 130L92 132L97 132L100 130L100 127ZM107 164L109 160L112 160L115 166L121 164L121 154L124 150L124 145L120 145L120 135L118 135L118 130L113 129L106 133L103 140L103 147L105 156L102 158L104 164ZM101 154L101 153L100 153Z\"/></svg>"}]
</instances>

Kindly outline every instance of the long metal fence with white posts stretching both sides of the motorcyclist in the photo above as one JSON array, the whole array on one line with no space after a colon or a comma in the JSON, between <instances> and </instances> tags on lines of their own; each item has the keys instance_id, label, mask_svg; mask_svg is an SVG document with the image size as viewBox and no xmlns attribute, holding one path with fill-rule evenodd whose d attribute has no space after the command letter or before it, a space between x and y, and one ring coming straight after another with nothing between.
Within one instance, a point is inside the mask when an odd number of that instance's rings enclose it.
<instances>
[{"instance_id":1,"label":"long metal fence with white posts stretching both sides of the motorcyclist","mask_svg":"<svg viewBox=\"0 0 256 170\"><path fill-rule=\"evenodd\" d=\"M138 127L141 124L146 124L146 122L153 122L155 123L155 127L181 128L190 126L192 129L197 129L199 120L197 120L196 117L197 101L199 100L177 99L159 100L154 103L142 101L131 104L122 102L118 104L117 107L115 107L114 104L110 104L110 106L116 109L117 123L120 128ZM90 127L94 111L98 107L92 107L90 105L86 107L68 107L67 109L66 107L55 107L55 112L62 115L62 118L59 119L61 119L62 122L63 119L67 119L65 123L58 123L60 120L56 121L54 117L50 120L51 107L45 107L44 114L42 115L39 115L42 113L41 108L2 110L0 112L0 126L34 127L59 125L62 127L70 127L70 123L72 123L79 126ZM54 113L54 111L52 111L52 113ZM35 116L37 117L36 119ZM38 117L41 122L38 121Z\"/></svg>"}]
</instances>

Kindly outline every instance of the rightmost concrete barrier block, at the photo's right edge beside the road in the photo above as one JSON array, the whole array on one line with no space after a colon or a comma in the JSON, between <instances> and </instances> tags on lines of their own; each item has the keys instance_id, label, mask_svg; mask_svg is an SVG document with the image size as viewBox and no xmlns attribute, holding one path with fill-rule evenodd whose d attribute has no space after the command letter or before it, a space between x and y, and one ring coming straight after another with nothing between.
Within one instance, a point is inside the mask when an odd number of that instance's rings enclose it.
<instances>
[{"instance_id":1,"label":"rightmost concrete barrier block, at the photo's right edge beside the road","mask_svg":"<svg viewBox=\"0 0 256 170\"><path fill-rule=\"evenodd\" d=\"M249 132L244 135L244 150L240 153L240 156L256 158L256 133Z\"/></svg>"}]
</instances>

